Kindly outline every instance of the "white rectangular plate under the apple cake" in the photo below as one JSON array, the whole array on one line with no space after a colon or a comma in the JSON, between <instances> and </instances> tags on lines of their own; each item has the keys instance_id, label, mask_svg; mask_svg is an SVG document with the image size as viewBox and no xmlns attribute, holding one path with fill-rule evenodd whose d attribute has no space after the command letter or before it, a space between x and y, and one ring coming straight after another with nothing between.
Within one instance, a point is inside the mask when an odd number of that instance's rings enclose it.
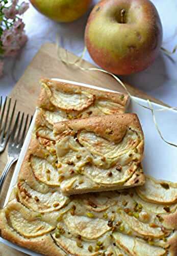
<instances>
[{"instance_id":1,"label":"white rectangular plate under the apple cake","mask_svg":"<svg viewBox=\"0 0 177 256\"><path fill-rule=\"evenodd\" d=\"M107 90L104 88L91 86L85 83L78 83L78 82L73 82L73 81L63 80L63 79L54 79L54 80L77 84L79 86L85 86L85 87L89 87L97 90L115 92L115 91ZM137 97L133 97L133 99L136 100L139 104L148 106L147 101L144 99L140 99ZM177 148L166 144L160 138L160 135L158 134L156 126L154 124L153 116L151 112L147 109L144 109L142 106L138 105L134 100L131 101L128 112L136 113L138 115L142 125L143 132L144 132L144 137L145 137L145 152L144 152L145 156L143 160L144 173L154 176L157 179L164 179L172 182L177 182L177 175L176 175ZM162 134L164 135L165 139L167 141L171 141L177 144L177 136L176 136L177 111L167 110L166 107L156 103L152 103L152 106L155 110L162 109L162 108L165 110L165 111L155 112L156 120L158 122L159 128ZM5 205L9 200L9 196L11 194L13 186L16 184L21 163L27 152L28 145L31 139L31 133L35 124L36 114L37 114L37 111L35 112L29 132L27 134L26 140L24 141L18 162L16 164L14 174L9 186L8 194L6 197ZM31 250L24 249L20 246L14 245L13 243L8 242L2 238L0 238L0 242L29 255L33 255L33 256L41 255Z\"/></svg>"}]
</instances>

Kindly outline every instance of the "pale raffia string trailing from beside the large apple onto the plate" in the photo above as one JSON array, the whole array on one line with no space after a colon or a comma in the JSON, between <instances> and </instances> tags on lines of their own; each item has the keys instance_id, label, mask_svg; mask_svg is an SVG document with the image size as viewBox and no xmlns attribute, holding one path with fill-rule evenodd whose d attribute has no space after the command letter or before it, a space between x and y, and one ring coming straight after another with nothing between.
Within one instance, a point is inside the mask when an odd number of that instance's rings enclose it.
<instances>
[{"instance_id":1,"label":"pale raffia string trailing from beside the large apple onto the plate","mask_svg":"<svg viewBox=\"0 0 177 256\"><path fill-rule=\"evenodd\" d=\"M85 55L85 52L87 50L87 48L85 47L83 52L82 52L82 55L81 57L77 57L74 61L69 61L69 58L68 58L68 52L67 50L64 49L64 52L65 52L65 56L66 58L64 59L61 55L61 48L60 48L60 42L59 42L59 37L57 36L57 55L58 55L58 58L60 61L62 61L63 63L65 63L66 65L73 65L75 67L78 67L79 69L83 70L83 71L99 71L99 72L103 72L103 73L106 73L106 74L109 74L111 75L121 86L122 88L127 92L127 94L130 96L131 100L136 102L136 104L138 104L139 106L141 106L142 108L144 109L147 109L147 110L150 110L151 111L151 114L153 115L153 121L154 121L154 124L156 126L156 129L161 137L161 139L167 143L168 145L171 145L171 146L174 146L174 147L177 147L177 144L174 144L174 143L171 143L171 142L168 142L166 139L164 139L163 135L162 135L162 132L160 131L159 129L159 126L158 126L158 123L156 121L156 117L155 117L155 111L167 111L167 110L177 110L177 107L165 107L165 108L161 108L161 109L154 109L153 108L153 105L151 104L150 100L147 99L147 103L149 106L145 106L143 104L140 104L131 94L130 92L128 91L127 87L125 86L125 84L117 77L115 76L114 74L106 71L106 70L103 70L103 69L98 69L98 68L84 68L81 66L81 62L83 60L83 57ZM177 49L177 46L176 46L176 49ZM176 112L177 114L177 112Z\"/></svg>"}]
</instances>

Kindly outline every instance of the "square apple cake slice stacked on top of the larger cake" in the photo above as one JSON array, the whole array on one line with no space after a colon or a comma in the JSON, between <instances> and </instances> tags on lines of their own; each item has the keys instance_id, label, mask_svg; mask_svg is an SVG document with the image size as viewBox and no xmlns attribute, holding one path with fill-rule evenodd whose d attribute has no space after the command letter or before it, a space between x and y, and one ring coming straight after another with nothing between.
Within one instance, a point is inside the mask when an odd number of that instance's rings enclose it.
<instances>
[{"instance_id":1,"label":"square apple cake slice stacked on top of the larger cake","mask_svg":"<svg viewBox=\"0 0 177 256\"><path fill-rule=\"evenodd\" d=\"M60 188L65 195L144 184L144 138L136 114L58 122L54 135Z\"/></svg>"}]
</instances>

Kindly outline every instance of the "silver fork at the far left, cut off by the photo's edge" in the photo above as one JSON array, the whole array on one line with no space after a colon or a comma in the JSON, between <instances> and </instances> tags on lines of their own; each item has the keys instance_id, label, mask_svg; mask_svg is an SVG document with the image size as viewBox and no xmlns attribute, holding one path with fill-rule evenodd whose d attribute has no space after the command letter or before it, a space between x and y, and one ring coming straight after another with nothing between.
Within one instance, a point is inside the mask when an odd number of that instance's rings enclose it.
<instances>
[{"instance_id":1,"label":"silver fork at the far left, cut off by the photo's edge","mask_svg":"<svg viewBox=\"0 0 177 256\"><path fill-rule=\"evenodd\" d=\"M6 112L6 105L7 105L7 112ZM11 98L9 98L8 100L8 97L6 97L3 105L3 97L1 96L0 98L0 153L4 152L9 139L12 121L15 113L15 107L16 107L16 100L11 112ZM9 120L10 115L11 117Z\"/></svg>"}]
</instances>

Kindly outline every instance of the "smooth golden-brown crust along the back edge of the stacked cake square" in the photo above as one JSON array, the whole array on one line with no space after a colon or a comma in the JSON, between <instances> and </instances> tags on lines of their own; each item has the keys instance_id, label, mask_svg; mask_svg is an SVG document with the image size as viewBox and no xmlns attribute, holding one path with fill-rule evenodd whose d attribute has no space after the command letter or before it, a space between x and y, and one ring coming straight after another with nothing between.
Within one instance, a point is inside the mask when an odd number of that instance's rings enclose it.
<instances>
[{"instance_id":1,"label":"smooth golden-brown crust along the back edge of the stacked cake square","mask_svg":"<svg viewBox=\"0 0 177 256\"><path fill-rule=\"evenodd\" d=\"M55 123L54 133L61 134L68 129L73 131L86 130L113 142L119 142L131 127L141 134L144 140L141 124L136 114L117 114L96 116L85 119L69 120ZM143 152L143 147L141 148Z\"/></svg>"}]
</instances>

